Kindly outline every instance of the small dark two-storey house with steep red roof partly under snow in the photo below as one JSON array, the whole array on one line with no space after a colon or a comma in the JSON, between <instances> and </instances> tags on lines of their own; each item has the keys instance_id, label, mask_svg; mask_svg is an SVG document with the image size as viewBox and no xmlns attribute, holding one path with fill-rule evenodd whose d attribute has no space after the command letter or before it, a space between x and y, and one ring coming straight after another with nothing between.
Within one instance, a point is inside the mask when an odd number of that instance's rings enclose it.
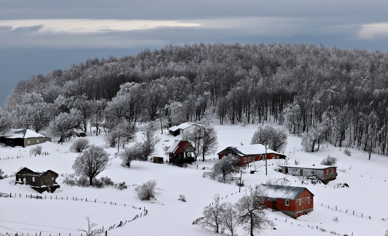
<instances>
[{"instance_id":1,"label":"small dark two-storey house with steep red roof partly under snow","mask_svg":"<svg viewBox=\"0 0 388 236\"><path fill-rule=\"evenodd\" d=\"M174 143L167 150L169 162L173 165L183 165L185 163L194 162L192 153L195 152L195 148L189 141L175 140Z\"/></svg>"}]
</instances>

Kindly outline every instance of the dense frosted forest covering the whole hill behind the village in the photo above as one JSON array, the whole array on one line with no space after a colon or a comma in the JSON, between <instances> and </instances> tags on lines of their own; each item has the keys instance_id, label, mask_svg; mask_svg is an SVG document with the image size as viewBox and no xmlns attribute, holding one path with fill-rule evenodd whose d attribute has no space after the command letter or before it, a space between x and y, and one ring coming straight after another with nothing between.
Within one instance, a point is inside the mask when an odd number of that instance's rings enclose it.
<instances>
[{"instance_id":1,"label":"dense frosted forest covering the whole hill behind the village","mask_svg":"<svg viewBox=\"0 0 388 236\"><path fill-rule=\"evenodd\" d=\"M21 81L1 111L0 128L10 121L35 131L49 127L63 139L88 124L98 135L139 121L163 128L215 115L220 124L277 122L303 134L310 152L328 142L388 155L387 98L386 52L314 44L166 45Z\"/></svg>"}]
</instances>

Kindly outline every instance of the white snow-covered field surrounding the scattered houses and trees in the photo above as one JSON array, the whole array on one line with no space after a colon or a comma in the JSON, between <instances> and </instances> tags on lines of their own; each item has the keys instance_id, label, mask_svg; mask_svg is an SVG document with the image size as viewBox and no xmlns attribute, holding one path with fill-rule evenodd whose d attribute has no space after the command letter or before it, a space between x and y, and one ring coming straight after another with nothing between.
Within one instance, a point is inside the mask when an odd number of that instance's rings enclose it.
<instances>
[{"instance_id":1,"label":"white snow-covered field surrounding the scattered houses and trees","mask_svg":"<svg viewBox=\"0 0 388 236\"><path fill-rule=\"evenodd\" d=\"M238 146L241 143L248 145L258 127L258 125L243 127L230 124L221 126L217 121L214 121L214 125L218 132L218 150L227 146ZM167 130L164 131L167 133ZM180 136L160 134L160 131L158 135L161 137L161 142L158 143L159 153L155 156L165 157L163 146L170 146ZM138 140L141 136L141 131L139 131ZM103 136L87 137L91 143L105 146ZM57 144L56 141L43 143L43 152L49 152L49 155L37 157L29 155L29 150L34 146L10 148L2 144L0 168L4 174L8 175L16 172L22 166L37 172L50 169L59 175L73 173L71 166L77 154L68 151L73 141L68 141L63 145ZM329 154L337 156L339 158L337 179L326 186L324 184L314 186L302 185L297 177L287 176L292 186L307 187L315 195L314 211L298 219L288 217L281 212L269 211L268 218L273 219L275 229L268 229L265 234L385 235L388 229L388 158L372 154L371 160L368 160L367 153L357 149L350 149L352 156L348 157L343 154L343 149L326 144L319 152L305 153L301 152L300 142L300 138L289 136L288 147L284 152L288 155L288 163L293 164L297 160L301 166L307 166L319 164ZM92 222L98 224L96 228L104 227L104 230L113 225L117 226L120 221L123 223L127 221L124 226L117 228L115 226L114 229L107 231L108 235L113 236L216 235L208 229L193 225L193 220L201 217L203 207L211 204L215 193L220 194L222 201L229 200L235 203L245 191L245 188L241 188L241 193L239 193L239 187L234 182L223 184L202 177L202 173L207 171L203 170L203 167L212 167L217 161L217 155L208 156L205 162L198 161L198 168L197 165L181 168L168 164L154 164L150 161L132 162L131 168L125 168L120 165L120 158L114 156L117 148L107 150L111 153L112 165L97 177L108 176L115 183L125 181L128 189L120 191L112 187L103 189L72 187L62 183L63 177L59 176L57 183L61 185L61 188L55 193L39 194L28 186L14 185L15 177L2 179L0 192L11 193L17 197L0 198L0 232L2 234L19 233L19 235L37 233L41 236L59 235L59 233L81 235L77 229L87 228L85 216L88 215ZM18 155L20 158L17 158ZM265 162L260 161L260 164L262 166L255 174L249 174L249 169L252 167L247 169L246 174L243 174L242 180L246 185L286 177L274 171L274 160L268 160L267 176L265 175ZM341 169L343 171L340 171ZM142 184L150 179L156 179L163 193L157 197L157 200L142 202L134 195L134 185ZM340 183L347 183L349 188L337 188ZM43 196L43 199L26 198L26 195L31 194ZM178 201L180 194L187 197L187 202ZM55 197L57 200L50 200ZM77 198L77 201L73 201L73 197ZM88 202L85 202L86 198ZM78 199L82 199L82 202ZM111 205L111 202L116 205ZM141 210L132 206L139 207ZM146 216L144 216L144 208L148 210ZM137 214L139 218L132 221ZM335 218L337 220L333 220ZM245 233L238 229L237 234L244 235Z\"/></svg>"}]
</instances>

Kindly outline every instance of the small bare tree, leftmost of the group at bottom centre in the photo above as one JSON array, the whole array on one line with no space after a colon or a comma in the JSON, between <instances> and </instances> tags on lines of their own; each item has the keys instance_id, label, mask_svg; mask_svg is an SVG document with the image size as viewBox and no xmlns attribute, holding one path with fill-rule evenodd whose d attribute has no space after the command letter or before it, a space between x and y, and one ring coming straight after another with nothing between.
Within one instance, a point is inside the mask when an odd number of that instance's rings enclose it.
<instances>
[{"instance_id":1,"label":"small bare tree, leftmost of the group at bottom centre","mask_svg":"<svg viewBox=\"0 0 388 236\"><path fill-rule=\"evenodd\" d=\"M203 209L203 219L200 220L200 225L209 227L216 233L219 233L222 225L222 214L225 211L225 203L220 203L220 195L217 193L213 196L213 204L206 206Z\"/></svg>"}]
</instances>

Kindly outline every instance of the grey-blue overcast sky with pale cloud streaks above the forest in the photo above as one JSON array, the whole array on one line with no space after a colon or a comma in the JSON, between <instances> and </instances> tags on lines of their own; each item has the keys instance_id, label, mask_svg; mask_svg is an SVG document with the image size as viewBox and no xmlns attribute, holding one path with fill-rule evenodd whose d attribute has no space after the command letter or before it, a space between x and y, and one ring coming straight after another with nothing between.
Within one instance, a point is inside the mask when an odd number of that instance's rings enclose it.
<instances>
[{"instance_id":1,"label":"grey-blue overcast sky with pale cloud streaks above the forest","mask_svg":"<svg viewBox=\"0 0 388 236\"><path fill-rule=\"evenodd\" d=\"M388 51L388 0L0 0L0 105L21 79L173 43L315 43Z\"/></svg>"}]
</instances>

